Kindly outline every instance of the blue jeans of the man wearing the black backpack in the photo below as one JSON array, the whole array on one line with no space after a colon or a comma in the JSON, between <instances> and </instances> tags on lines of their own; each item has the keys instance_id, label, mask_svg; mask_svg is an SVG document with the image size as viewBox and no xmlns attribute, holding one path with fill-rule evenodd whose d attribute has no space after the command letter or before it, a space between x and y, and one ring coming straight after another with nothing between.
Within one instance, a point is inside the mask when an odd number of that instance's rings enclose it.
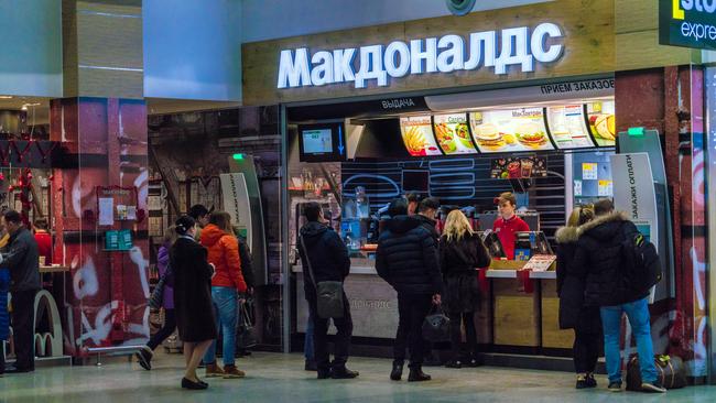
<instances>
[{"instance_id":1,"label":"blue jeans of the man wearing the black backpack","mask_svg":"<svg viewBox=\"0 0 716 403\"><path fill-rule=\"evenodd\" d=\"M654 347L651 340L648 297L632 303L603 306L601 326L604 328L604 355L607 361L609 382L621 382L621 355L619 338L621 334L621 314L626 313L631 333L637 340L639 366L642 382L654 382L658 378L654 367Z\"/></svg>"}]
</instances>

